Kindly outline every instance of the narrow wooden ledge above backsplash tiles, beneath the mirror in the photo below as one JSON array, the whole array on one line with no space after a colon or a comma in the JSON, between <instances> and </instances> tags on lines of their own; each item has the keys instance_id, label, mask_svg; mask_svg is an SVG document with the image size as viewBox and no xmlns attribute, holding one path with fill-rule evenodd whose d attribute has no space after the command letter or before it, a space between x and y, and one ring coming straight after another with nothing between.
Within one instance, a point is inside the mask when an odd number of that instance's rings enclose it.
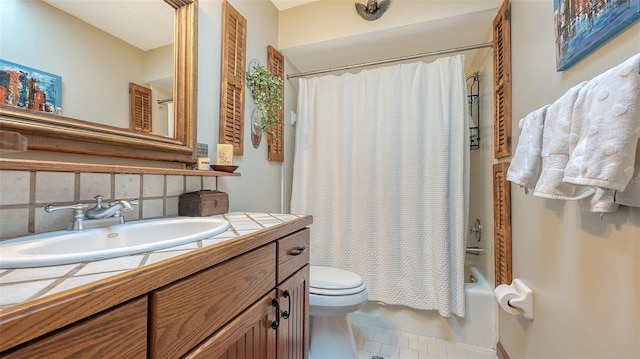
<instances>
[{"instance_id":1,"label":"narrow wooden ledge above backsplash tiles, beneath the mirror","mask_svg":"<svg viewBox=\"0 0 640 359\"><path fill-rule=\"evenodd\" d=\"M135 167L96 165L73 162L16 160L0 158L0 170L16 171L54 171L54 172L95 172L95 173L127 173L127 174L163 174L207 177L239 177L240 173L228 173L220 171L196 171L176 168Z\"/></svg>"}]
</instances>

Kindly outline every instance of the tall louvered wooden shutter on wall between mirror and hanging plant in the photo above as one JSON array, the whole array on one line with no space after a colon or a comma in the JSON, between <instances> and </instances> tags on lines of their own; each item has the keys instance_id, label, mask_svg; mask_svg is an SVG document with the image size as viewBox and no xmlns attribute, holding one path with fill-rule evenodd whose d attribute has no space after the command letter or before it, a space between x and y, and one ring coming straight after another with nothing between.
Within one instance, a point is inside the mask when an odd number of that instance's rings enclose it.
<instances>
[{"instance_id":1,"label":"tall louvered wooden shutter on wall between mirror and hanging plant","mask_svg":"<svg viewBox=\"0 0 640 359\"><path fill-rule=\"evenodd\" d=\"M222 70L219 143L244 151L244 86L247 20L227 1L222 4Z\"/></svg>"}]
</instances>

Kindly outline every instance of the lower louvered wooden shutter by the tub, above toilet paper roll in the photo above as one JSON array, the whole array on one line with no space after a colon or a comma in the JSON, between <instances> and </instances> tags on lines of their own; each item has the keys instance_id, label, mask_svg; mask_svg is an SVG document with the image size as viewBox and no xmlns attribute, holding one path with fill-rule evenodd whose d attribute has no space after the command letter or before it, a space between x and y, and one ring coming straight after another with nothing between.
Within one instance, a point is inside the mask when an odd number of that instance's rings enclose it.
<instances>
[{"instance_id":1,"label":"lower louvered wooden shutter by the tub, above toilet paper roll","mask_svg":"<svg viewBox=\"0 0 640 359\"><path fill-rule=\"evenodd\" d=\"M493 223L496 287L511 284L511 187L509 162L493 165Z\"/></svg>"}]
</instances>

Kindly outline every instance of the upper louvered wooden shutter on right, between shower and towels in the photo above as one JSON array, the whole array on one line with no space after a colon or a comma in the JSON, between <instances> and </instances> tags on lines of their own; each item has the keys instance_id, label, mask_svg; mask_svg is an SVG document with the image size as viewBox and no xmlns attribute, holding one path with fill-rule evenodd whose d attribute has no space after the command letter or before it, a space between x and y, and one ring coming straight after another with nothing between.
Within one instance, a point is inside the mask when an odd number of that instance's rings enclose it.
<instances>
[{"instance_id":1,"label":"upper louvered wooden shutter on right, between shower and towels","mask_svg":"<svg viewBox=\"0 0 640 359\"><path fill-rule=\"evenodd\" d=\"M506 0L493 20L495 158L511 156L511 6Z\"/></svg>"}]
</instances>

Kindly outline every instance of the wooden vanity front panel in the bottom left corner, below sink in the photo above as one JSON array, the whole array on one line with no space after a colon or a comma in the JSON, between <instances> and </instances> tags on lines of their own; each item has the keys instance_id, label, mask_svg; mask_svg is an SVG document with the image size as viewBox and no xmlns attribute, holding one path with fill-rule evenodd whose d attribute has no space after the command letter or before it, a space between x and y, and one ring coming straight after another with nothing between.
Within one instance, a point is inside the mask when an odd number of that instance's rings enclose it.
<instances>
[{"instance_id":1,"label":"wooden vanity front panel in the bottom left corner, below sink","mask_svg":"<svg viewBox=\"0 0 640 359\"><path fill-rule=\"evenodd\" d=\"M147 296L34 339L2 358L145 358Z\"/></svg>"}]
</instances>

